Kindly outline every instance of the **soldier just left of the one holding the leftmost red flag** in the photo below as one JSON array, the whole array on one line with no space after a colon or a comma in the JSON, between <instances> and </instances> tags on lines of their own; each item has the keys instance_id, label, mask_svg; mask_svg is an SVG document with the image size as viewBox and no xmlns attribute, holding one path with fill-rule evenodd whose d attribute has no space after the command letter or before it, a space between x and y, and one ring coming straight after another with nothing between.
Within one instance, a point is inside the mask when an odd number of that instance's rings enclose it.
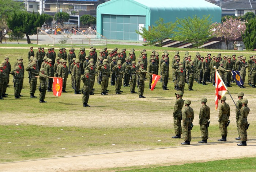
<instances>
[{"instance_id":1,"label":"soldier just left of the one holding the leftmost red flag","mask_svg":"<svg viewBox=\"0 0 256 172\"><path fill-rule=\"evenodd\" d=\"M39 71L37 69L37 63L33 62L33 66L28 66L26 68L26 71L29 71L30 74L30 98L36 98L35 90L37 88L37 77L39 74Z\"/></svg>"}]
</instances>

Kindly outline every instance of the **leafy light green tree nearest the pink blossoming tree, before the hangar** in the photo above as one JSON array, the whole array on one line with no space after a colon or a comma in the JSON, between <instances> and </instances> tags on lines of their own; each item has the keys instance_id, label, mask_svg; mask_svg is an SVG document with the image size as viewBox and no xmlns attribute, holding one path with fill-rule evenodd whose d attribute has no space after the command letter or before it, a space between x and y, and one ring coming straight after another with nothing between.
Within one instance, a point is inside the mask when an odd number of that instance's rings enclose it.
<instances>
[{"instance_id":1,"label":"leafy light green tree nearest the pink blossoming tree, before the hangar","mask_svg":"<svg viewBox=\"0 0 256 172\"><path fill-rule=\"evenodd\" d=\"M193 18L177 18L176 22L178 27L174 32L174 40L189 42L193 47L198 48L213 37L210 15L204 15L202 19L196 15Z\"/></svg>"}]
</instances>

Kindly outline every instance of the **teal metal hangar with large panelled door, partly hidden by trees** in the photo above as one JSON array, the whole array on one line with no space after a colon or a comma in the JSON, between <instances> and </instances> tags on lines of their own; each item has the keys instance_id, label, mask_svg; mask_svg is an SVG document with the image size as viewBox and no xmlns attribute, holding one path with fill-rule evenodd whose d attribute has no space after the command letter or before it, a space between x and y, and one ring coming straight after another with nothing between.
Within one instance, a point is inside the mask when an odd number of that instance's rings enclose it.
<instances>
[{"instance_id":1,"label":"teal metal hangar with large panelled door, partly hidden by trees","mask_svg":"<svg viewBox=\"0 0 256 172\"><path fill-rule=\"evenodd\" d=\"M221 8L205 0L110 0L97 7L97 32L107 39L143 40L135 30L148 28L163 18L211 15L221 22Z\"/></svg>"}]
</instances>

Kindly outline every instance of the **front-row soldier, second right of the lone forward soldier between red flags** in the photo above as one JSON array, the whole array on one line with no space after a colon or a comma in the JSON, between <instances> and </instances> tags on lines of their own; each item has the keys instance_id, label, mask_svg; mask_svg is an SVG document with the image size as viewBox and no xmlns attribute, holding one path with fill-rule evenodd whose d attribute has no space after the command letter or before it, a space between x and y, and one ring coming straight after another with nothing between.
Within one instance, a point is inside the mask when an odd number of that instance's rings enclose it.
<instances>
[{"instance_id":1,"label":"front-row soldier, second right of the lone forward soldier between red flags","mask_svg":"<svg viewBox=\"0 0 256 172\"><path fill-rule=\"evenodd\" d=\"M109 69L108 69L108 64L107 62L103 62L102 65L98 66L98 70L101 71L102 73L102 81L101 81L101 95L108 95L106 94L106 89L108 87L108 79L109 79Z\"/></svg>"}]
</instances>

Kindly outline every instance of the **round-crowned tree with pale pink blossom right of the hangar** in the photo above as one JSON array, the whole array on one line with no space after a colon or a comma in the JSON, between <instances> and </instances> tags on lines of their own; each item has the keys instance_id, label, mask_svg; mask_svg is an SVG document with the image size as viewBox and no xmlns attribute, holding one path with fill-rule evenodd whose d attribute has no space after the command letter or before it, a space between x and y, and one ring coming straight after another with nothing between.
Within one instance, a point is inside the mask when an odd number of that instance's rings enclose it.
<instances>
[{"instance_id":1,"label":"round-crowned tree with pale pink blossom right of the hangar","mask_svg":"<svg viewBox=\"0 0 256 172\"><path fill-rule=\"evenodd\" d=\"M217 37L221 37L221 39L225 41L228 49L229 42L241 37L245 28L245 24L241 23L240 20L230 18L217 24L213 34Z\"/></svg>"}]
</instances>

